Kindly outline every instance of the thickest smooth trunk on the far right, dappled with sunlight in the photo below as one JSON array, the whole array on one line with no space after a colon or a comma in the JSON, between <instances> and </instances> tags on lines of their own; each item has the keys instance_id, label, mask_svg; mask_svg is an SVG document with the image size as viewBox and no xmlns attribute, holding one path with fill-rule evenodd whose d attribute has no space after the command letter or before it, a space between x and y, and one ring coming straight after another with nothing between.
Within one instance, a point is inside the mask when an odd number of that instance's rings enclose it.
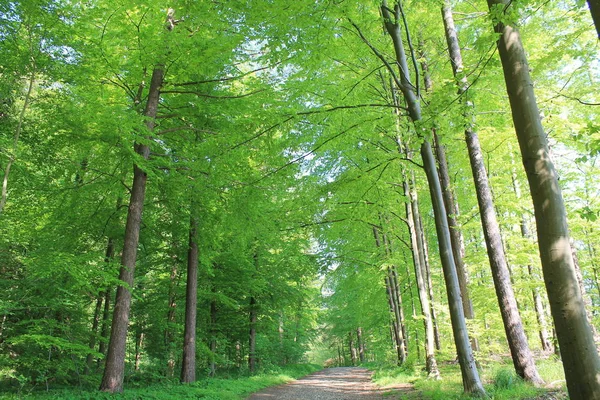
<instances>
[{"instance_id":1,"label":"thickest smooth trunk on the far right, dappled with sunlight","mask_svg":"<svg viewBox=\"0 0 600 400\"><path fill-rule=\"evenodd\" d=\"M488 0L488 5L506 12L510 1ZM500 34L498 51L533 199L544 281L569 396L573 400L600 399L600 357L577 283L564 201L550 160L527 57L517 29L498 22L495 31Z\"/></svg>"}]
</instances>

